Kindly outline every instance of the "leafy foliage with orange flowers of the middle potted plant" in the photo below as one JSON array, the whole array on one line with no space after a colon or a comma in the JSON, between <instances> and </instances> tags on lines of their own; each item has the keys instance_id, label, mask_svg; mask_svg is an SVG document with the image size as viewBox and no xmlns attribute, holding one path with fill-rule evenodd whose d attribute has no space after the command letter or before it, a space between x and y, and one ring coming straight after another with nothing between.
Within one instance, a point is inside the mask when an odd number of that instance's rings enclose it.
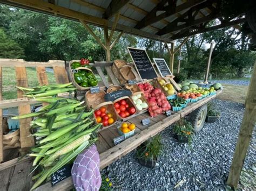
<instances>
[{"instance_id":1,"label":"leafy foliage with orange flowers of the middle potted plant","mask_svg":"<svg viewBox=\"0 0 256 191\"><path fill-rule=\"evenodd\" d=\"M188 138L188 145L192 143L193 126L185 119L180 119L174 124L173 132L178 136L184 136Z\"/></svg>"}]
</instances>

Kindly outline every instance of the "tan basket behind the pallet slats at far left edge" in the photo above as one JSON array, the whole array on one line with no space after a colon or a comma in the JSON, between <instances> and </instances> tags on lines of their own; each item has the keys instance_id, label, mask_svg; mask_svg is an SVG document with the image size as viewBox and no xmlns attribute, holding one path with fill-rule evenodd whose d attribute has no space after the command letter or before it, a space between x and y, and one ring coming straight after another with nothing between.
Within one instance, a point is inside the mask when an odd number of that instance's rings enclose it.
<instances>
[{"instance_id":1,"label":"tan basket behind the pallet slats at far left edge","mask_svg":"<svg viewBox=\"0 0 256 191\"><path fill-rule=\"evenodd\" d=\"M3 135L3 149L21 147L21 141L19 138L19 129L12 133Z\"/></svg>"}]
</instances>

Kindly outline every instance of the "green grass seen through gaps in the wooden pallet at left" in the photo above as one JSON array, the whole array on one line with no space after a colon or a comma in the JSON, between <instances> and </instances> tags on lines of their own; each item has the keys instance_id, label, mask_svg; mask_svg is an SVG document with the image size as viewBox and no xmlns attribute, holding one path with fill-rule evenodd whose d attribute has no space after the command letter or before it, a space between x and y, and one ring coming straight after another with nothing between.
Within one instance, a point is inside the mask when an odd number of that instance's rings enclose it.
<instances>
[{"instance_id":1,"label":"green grass seen through gaps in the wooden pallet at left","mask_svg":"<svg viewBox=\"0 0 256 191\"><path fill-rule=\"evenodd\" d=\"M26 67L26 75L28 76L29 87L39 85L35 67ZM46 72L49 83L56 83L55 76L51 72ZM14 67L3 67L3 100L17 98L16 73Z\"/></svg>"}]
</instances>

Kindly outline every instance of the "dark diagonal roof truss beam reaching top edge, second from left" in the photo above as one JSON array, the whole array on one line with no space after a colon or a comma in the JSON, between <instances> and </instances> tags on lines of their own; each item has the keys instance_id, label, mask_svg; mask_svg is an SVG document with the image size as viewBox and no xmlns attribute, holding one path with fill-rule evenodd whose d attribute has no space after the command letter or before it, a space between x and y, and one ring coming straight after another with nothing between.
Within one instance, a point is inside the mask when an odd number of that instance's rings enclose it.
<instances>
[{"instance_id":1,"label":"dark diagonal roof truss beam reaching top edge, second from left","mask_svg":"<svg viewBox=\"0 0 256 191\"><path fill-rule=\"evenodd\" d=\"M142 20L140 20L140 22L137 23L135 28L143 29L144 27L156 23L159 20L162 20L166 17L170 17L172 15L175 15L176 13L179 13L180 11L184 11L185 9L203 3L205 2L205 0L190 0L178 6L176 6L176 1L172 1L172 4L170 3L169 5L165 6L167 2L167 0L163 0L160 3L158 3L157 6L152 11L150 11ZM166 11L157 16L157 11L159 10Z\"/></svg>"}]
</instances>

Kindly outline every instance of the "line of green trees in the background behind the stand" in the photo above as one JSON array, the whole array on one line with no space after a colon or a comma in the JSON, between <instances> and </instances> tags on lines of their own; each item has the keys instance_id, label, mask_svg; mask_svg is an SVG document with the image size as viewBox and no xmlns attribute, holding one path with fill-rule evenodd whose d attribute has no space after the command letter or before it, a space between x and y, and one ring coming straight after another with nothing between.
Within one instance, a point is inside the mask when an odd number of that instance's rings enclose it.
<instances>
[{"instance_id":1,"label":"line of green trees in the background behind the stand","mask_svg":"<svg viewBox=\"0 0 256 191\"><path fill-rule=\"evenodd\" d=\"M209 26L218 21L208 23ZM212 53L213 78L242 77L253 66L255 52L250 51L250 39L244 32L245 25L223 28L190 37L181 47L180 77L202 79L206 70L209 49ZM100 27L91 26L93 32L104 41ZM118 32L114 33L118 36ZM176 41L176 47L183 41ZM169 53L164 43L124 34L111 49L111 60L131 61L127 46L146 48L152 58L164 58L169 63ZM90 58L104 61L105 51L85 30L82 24L0 4L0 58L22 58L26 61L76 60ZM174 74L177 72L178 53L174 58Z\"/></svg>"}]
</instances>

